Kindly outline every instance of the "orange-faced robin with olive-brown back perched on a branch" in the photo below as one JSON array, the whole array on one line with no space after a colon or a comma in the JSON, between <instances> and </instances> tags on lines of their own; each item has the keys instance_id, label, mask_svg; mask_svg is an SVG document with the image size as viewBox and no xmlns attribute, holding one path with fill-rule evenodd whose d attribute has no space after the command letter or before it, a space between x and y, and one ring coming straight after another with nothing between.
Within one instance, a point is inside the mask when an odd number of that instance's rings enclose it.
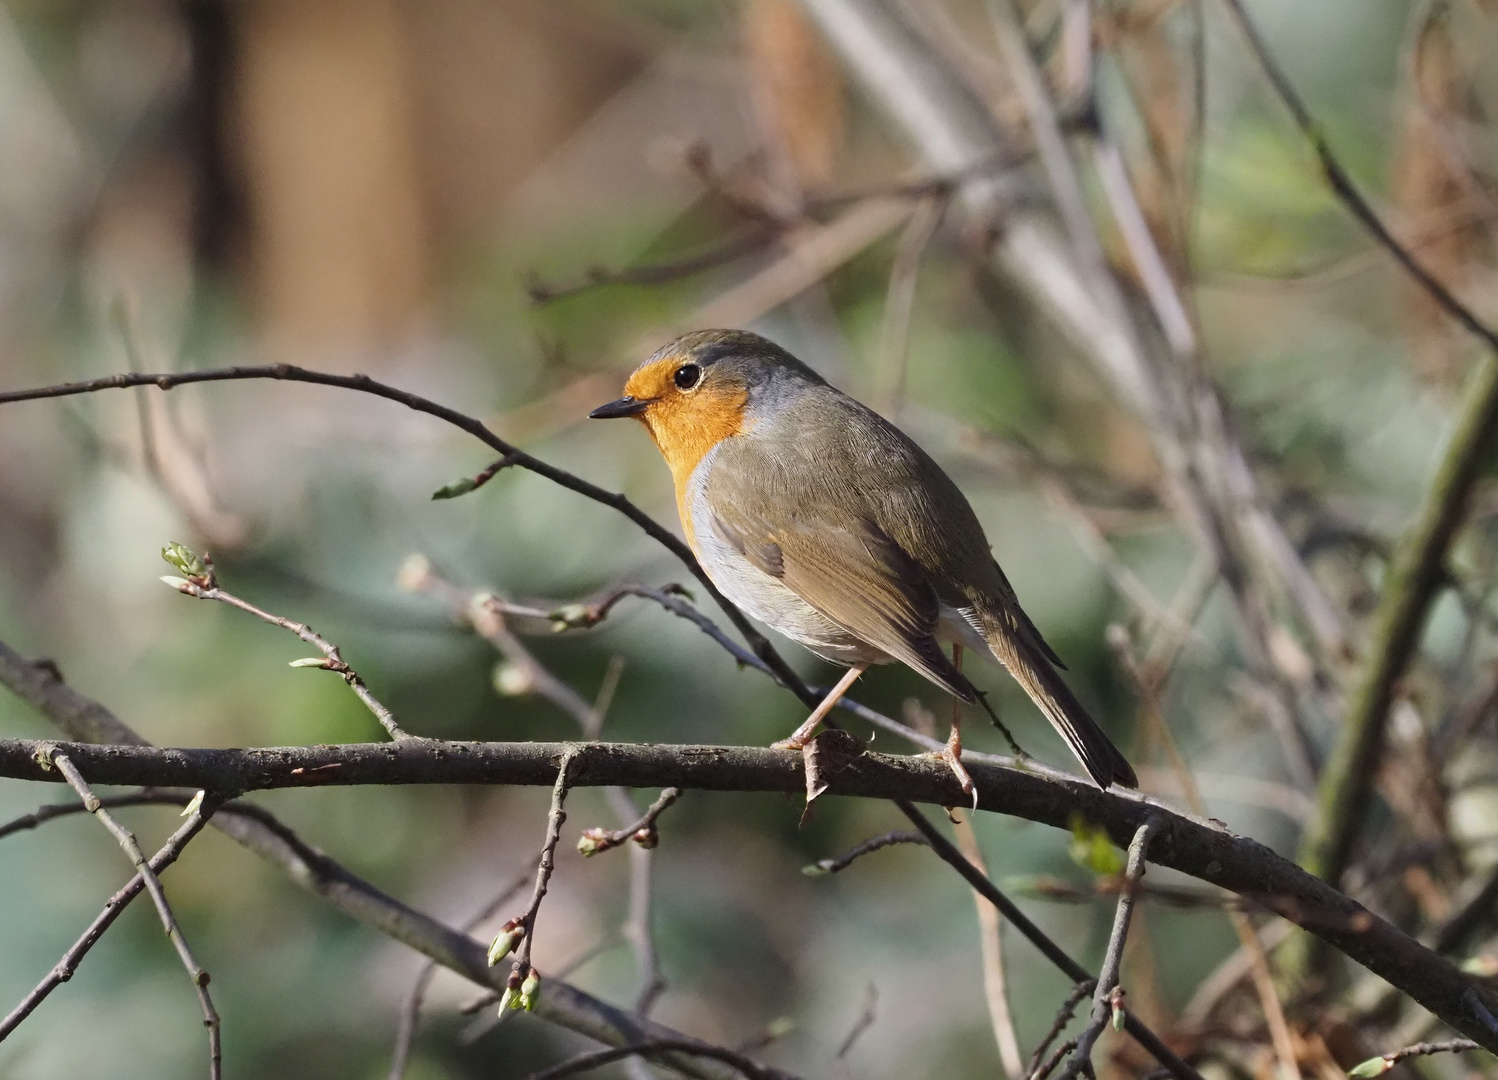
<instances>
[{"instance_id":1,"label":"orange-faced robin with olive-brown back perched on a branch","mask_svg":"<svg viewBox=\"0 0 1498 1080\"><path fill-rule=\"evenodd\" d=\"M737 330L686 334L629 376L625 397L589 416L644 422L676 481L686 541L728 599L848 667L776 746L806 746L870 664L900 661L977 703L959 667L969 647L1008 668L1100 788L1138 785L1056 673L1065 665L1025 614L951 478L785 349ZM972 794L956 710L938 756Z\"/></svg>"}]
</instances>

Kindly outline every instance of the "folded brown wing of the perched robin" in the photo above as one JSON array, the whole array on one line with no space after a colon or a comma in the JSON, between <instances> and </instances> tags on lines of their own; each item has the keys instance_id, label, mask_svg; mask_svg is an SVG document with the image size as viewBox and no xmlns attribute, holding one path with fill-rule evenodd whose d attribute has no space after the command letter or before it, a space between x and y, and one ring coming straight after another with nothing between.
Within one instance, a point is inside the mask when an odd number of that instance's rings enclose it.
<instances>
[{"instance_id":1,"label":"folded brown wing of the perched robin","mask_svg":"<svg viewBox=\"0 0 1498 1080\"><path fill-rule=\"evenodd\" d=\"M854 637L945 691L975 700L972 685L936 643L936 589L872 517L834 508L815 493L795 493L771 505L731 490L731 482L710 481L710 487L718 487L709 499L713 527L753 566Z\"/></svg>"}]
</instances>

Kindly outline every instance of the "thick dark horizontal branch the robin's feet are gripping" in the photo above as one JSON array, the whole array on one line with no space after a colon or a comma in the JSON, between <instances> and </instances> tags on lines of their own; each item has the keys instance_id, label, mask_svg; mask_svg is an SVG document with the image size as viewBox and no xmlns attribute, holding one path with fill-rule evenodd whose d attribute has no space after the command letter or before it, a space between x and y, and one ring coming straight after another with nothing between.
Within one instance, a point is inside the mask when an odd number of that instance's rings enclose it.
<instances>
[{"instance_id":1,"label":"thick dark horizontal branch the robin's feet are gripping","mask_svg":"<svg viewBox=\"0 0 1498 1080\"><path fill-rule=\"evenodd\" d=\"M706 791L804 788L801 758L789 750L740 746L637 746L626 743L355 743L267 749L165 749L0 740L0 776L60 780L45 753L64 752L91 783L192 786L214 791L392 783L508 783L551 786L568 749L574 786L677 786ZM1141 795L1100 791L1082 780L969 765L978 806L1068 828L1076 815L1107 830L1119 846L1155 816L1150 861L1252 897L1297 923L1410 995L1443 1022L1498 1049L1498 1022L1476 981L1257 840L1234 836ZM864 753L831 780L831 794L957 806L965 797L942 764Z\"/></svg>"}]
</instances>

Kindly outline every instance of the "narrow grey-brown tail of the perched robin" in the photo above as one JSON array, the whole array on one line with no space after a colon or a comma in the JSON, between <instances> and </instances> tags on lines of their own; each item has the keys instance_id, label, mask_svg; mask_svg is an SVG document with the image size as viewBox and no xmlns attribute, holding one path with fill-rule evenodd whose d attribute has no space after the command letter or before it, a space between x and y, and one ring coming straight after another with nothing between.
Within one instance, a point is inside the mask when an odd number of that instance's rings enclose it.
<instances>
[{"instance_id":1,"label":"narrow grey-brown tail of the perched robin","mask_svg":"<svg viewBox=\"0 0 1498 1080\"><path fill-rule=\"evenodd\" d=\"M1052 665L1050 650L1029 619L1020 613L1020 625L1016 625L1005 619L1004 613L993 616L984 613L984 616L983 637L987 638L993 655L1046 713L1046 719L1067 740L1067 746L1097 785L1104 789L1115 783L1137 788L1138 777L1134 776L1134 767L1062 680ZM1035 641L1028 640L1031 635Z\"/></svg>"}]
</instances>

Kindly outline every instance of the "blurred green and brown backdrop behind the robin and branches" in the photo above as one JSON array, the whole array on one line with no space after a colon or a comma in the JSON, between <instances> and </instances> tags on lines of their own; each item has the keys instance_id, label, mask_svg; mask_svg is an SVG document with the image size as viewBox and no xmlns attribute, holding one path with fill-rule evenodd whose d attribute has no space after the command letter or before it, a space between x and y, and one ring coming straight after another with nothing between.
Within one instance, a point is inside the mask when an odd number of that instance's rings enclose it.
<instances>
[{"instance_id":1,"label":"blurred green and brown backdrop behind the robin and branches","mask_svg":"<svg viewBox=\"0 0 1498 1080\"><path fill-rule=\"evenodd\" d=\"M1019 132L1010 157L983 168L1041 177L984 4L888 7L993 123ZM1074 75L1077 10L1032 0L1020 12L1058 99ZM1258 0L1249 10L1398 234L1498 316L1498 10L1486 0ZM1327 192L1216 4L1080 12L1097 111L1185 298L1197 360L1224 397L1260 505L1357 641L1474 349ZM1086 141L1086 115L1061 120ZM1106 205L1100 175L1083 169L1095 210ZM1147 425L1034 297L984 261L1004 222L983 235L945 187L923 184L932 178L942 177L791 0L6 0L0 389L130 367L364 371L484 419L676 529L646 433L583 418L674 333L748 327L897 418L941 460L1146 789L1185 806L1122 662L1170 653L1164 718L1206 810L1293 854L1345 658L1326 661L1276 617L1278 689L1266 689L1263 658L1245 658ZM1107 213L1098 217L1110 273L1144 307L1126 246ZM626 268L649 273L611 279ZM421 554L460 590L542 611L689 575L620 515L518 470L431 502L488 460L431 418L304 385L6 406L0 638L54 659L156 743L382 737L340 680L288 667L307 653L291 635L160 584L169 568L159 550L181 541L213 554L231 592L342 646L406 729L572 737L574 720L526 694L449 605L403 590L401 566ZM1458 551L1471 595L1435 613L1432 662L1396 715L1402 746L1470 713L1489 677L1494 509L1485 490ZM701 590L697 599L725 622ZM617 680L607 738L767 743L801 715L791 695L644 601L623 601L590 631L553 634L544 619L512 629L584 700ZM828 682L830 670L782 644L809 679ZM1002 673L974 674L1026 749L1074 767ZM1303 706L1299 759L1276 728L1285 688ZM929 710L945 734L947 701L908 671L872 673L858 697L917 723ZM1435 767L1450 797L1432 810L1444 846L1426 836L1420 848L1419 830L1398 824L1419 813L1380 803L1395 839L1387 861L1356 881L1398 893L1360 899L1407 924L1437 917L1422 902L1449 909L1450 881L1494 861L1483 840L1498 810L1482 777L1498 750L1485 718L1470 725L1467 750ZM9 695L0 729L52 734ZM977 718L966 734L975 749L1005 749ZM906 749L888 734L875 746ZM643 806L655 792L637 794ZM397 897L460 923L533 866L545 795L327 789L256 801ZM3 785L0 816L55 797ZM572 851L577 830L614 825L599 792L575 792L568 809L536 962L628 1002L638 983L620 930L629 858ZM878 803L825 800L804 828L798 813L779 797L689 792L662 818L653 918L667 989L653 1016L728 1046L773 1034L765 1058L806 1076L993 1076L971 896L908 846L803 876L807 863L902 822ZM177 821L166 809L121 816L148 849ZM995 878L1095 965L1112 918L1110 899L1092 896L1097 867L1074 861L1053 830L992 815L974 828ZM81 818L3 843L9 1008L127 867ZM1038 888L1041 878L1080 902L1044 894L1056 888ZM421 957L211 831L165 881L213 972L226 1076L385 1076ZM1146 905L1126 962L1131 1008L1170 1028L1237 942L1213 908ZM1005 944L1028 1055L1068 986L1023 941ZM518 1077L584 1046L533 1017L496 1026L491 1008L461 1014L473 998L437 977L406 1076ZM1239 1052L1213 1068L1273 1076L1261 1019L1221 1025ZM1297 1023L1297 1038L1312 1028ZM1306 1074L1339 1076L1336 1056L1306 1050ZM0 1077L189 1076L201 1059L190 986L136 903L0 1046Z\"/></svg>"}]
</instances>

